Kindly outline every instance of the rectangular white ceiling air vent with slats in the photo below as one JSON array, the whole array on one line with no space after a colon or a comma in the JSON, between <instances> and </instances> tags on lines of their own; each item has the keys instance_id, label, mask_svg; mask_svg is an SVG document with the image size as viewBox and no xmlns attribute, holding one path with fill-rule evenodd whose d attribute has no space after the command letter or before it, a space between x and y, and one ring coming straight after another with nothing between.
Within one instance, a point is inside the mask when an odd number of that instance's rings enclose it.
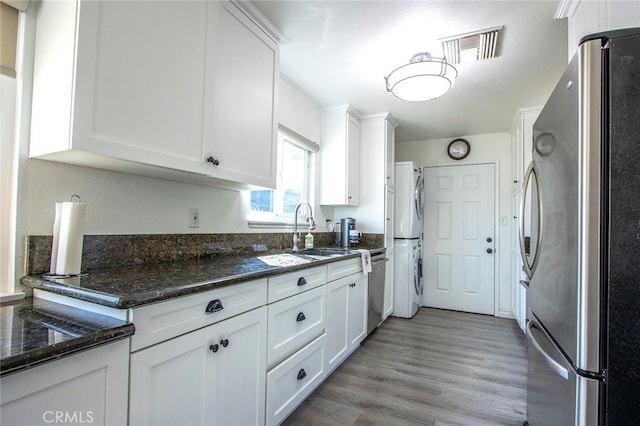
<instances>
[{"instance_id":1,"label":"rectangular white ceiling air vent with slats","mask_svg":"<svg viewBox=\"0 0 640 426\"><path fill-rule=\"evenodd\" d=\"M502 26L441 38L447 62L453 65L496 57L498 33Z\"/></svg>"}]
</instances>

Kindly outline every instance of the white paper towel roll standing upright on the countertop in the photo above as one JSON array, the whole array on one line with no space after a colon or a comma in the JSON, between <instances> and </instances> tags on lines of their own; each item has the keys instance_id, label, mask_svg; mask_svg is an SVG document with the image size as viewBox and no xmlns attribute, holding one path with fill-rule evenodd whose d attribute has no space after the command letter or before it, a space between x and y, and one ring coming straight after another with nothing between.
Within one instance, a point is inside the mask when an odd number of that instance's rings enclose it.
<instances>
[{"instance_id":1,"label":"white paper towel roll standing upright on the countertop","mask_svg":"<svg viewBox=\"0 0 640 426\"><path fill-rule=\"evenodd\" d=\"M84 239L84 203L61 203L60 234L55 273L78 275L82 265Z\"/></svg>"}]
</instances>

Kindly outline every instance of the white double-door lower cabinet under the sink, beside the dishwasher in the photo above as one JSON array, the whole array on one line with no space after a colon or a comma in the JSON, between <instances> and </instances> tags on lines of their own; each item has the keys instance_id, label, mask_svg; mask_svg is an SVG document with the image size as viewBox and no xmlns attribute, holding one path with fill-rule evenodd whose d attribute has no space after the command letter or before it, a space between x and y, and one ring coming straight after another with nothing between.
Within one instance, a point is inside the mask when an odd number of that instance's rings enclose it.
<instances>
[{"instance_id":1,"label":"white double-door lower cabinet under the sink, beside the dishwasher","mask_svg":"<svg viewBox=\"0 0 640 426\"><path fill-rule=\"evenodd\" d=\"M327 284L327 372L349 356L367 334L367 276L349 275Z\"/></svg>"}]
</instances>

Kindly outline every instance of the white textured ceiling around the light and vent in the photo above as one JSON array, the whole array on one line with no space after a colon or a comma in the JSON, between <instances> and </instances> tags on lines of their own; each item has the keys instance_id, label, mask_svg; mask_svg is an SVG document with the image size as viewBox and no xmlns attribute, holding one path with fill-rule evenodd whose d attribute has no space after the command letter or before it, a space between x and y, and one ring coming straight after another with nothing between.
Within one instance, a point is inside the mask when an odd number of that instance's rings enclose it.
<instances>
[{"instance_id":1,"label":"white textured ceiling around the light and vent","mask_svg":"<svg viewBox=\"0 0 640 426\"><path fill-rule=\"evenodd\" d=\"M390 112L396 141L508 131L517 108L543 105L567 65L558 1L255 1L290 39L280 68L320 107ZM413 54L442 56L439 38L503 25L498 57L460 64L453 89L426 102L385 90Z\"/></svg>"}]
</instances>

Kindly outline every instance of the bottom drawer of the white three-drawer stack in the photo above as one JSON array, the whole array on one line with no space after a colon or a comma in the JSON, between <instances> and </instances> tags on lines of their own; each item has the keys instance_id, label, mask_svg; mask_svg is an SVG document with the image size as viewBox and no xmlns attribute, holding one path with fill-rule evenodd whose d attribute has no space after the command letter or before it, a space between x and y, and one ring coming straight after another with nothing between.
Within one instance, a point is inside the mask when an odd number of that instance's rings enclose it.
<instances>
[{"instance_id":1,"label":"bottom drawer of the white three-drawer stack","mask_svg":"<svg viewBox=\"0 0 640 426\"><path fill-rule=\"evenodd\" d=\"M267 424L282 422L324 380L325 335L267 373Z\"/></svg>"}]
</instances>

